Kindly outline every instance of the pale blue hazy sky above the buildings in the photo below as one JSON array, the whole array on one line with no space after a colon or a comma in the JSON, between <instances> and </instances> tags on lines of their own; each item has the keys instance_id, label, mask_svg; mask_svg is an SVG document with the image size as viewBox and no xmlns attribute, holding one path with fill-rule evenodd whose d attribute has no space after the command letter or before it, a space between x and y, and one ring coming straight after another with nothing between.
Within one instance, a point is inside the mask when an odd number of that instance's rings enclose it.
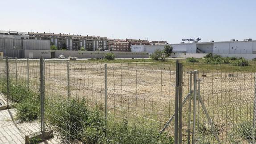
<instances>
[{"instance_id":1,"label":"pale blue hazy sky above the buildings","mask_svg":"<svg viewBox=\"0 0 256 144\"><path fill-rule=\"evenodd\" d=\"M0 30L108 38L256 39L256 0L0 0Z\"/></svg>"}]
</instances>

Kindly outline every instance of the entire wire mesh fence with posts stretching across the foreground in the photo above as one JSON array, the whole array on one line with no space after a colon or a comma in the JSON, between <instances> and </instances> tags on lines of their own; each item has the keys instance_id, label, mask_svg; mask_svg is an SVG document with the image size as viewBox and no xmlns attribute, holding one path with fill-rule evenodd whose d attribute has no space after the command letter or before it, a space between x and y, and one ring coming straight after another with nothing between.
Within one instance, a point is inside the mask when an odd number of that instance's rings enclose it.
<instances>
[{"instance_id":1,"label":"entire wire mesh fence with posts stretching across the foreground","mask_svg":"<svg viewBox=\"0 0 256 144\"><path fill-rule=\"evenodd\" d=\"M253 142L255 73L193 67L4 58L0 91L62 143Z\"/></svg>"}]
</instances>

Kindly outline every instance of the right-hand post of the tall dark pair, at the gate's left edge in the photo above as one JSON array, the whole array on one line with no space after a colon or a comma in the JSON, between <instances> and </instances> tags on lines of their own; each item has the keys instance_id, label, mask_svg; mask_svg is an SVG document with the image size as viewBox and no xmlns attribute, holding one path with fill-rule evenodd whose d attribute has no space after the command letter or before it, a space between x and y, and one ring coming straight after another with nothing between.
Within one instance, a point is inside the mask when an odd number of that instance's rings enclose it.
<instances>
[{"instance_id":1,"label":"right-hand post of the tall dark pair, at the gate's left edge","mask_svg":"<svg viewBox=\"0 0 256 144\"><path fill-rule=\"evenodd\" d=\"M183 66L179 64L179 144L182 144L182 88L183 88Z\"/></svg>"}]
</instances>

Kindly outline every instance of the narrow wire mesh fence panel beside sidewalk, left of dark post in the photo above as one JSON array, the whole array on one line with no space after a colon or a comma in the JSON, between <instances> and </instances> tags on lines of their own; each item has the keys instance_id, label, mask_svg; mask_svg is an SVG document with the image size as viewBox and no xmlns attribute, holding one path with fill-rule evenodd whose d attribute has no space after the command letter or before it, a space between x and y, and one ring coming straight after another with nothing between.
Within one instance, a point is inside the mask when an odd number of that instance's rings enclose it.
<instances>
[{"instance_id":1,"label":"narrow wire mesh fence panel beside sidewalk, left of dark post","mask_svg":"<svg viewBox=\"0 0 256 144\"><path fill-rule=\"evenodd\" d=\"M24 136L40 129L37 66L38 60L24 58L4 58L0 63L0 91L7 95L1 99L10 108L8 112L12 120L19 123L17 127Z\"/></svg>"}]
</instances>

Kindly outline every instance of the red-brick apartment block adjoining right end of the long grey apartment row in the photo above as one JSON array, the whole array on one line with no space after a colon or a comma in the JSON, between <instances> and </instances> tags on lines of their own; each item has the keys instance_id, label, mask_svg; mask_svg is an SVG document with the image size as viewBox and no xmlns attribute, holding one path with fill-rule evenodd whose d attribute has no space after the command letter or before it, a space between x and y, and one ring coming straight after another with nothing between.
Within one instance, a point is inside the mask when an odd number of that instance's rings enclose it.
<instances>
[{"instance_id":1,"label":"red-brick apartment block adjoining right end of the long grey apartment row","mask_svg":"<svg viewBox=\"0 0 256 144\"><path fill-rule=\"evenodd\" d=\"M129 42L120 39L109 39L109 47L112 51L129 51Z\"/></svg>"}]
</instances>

